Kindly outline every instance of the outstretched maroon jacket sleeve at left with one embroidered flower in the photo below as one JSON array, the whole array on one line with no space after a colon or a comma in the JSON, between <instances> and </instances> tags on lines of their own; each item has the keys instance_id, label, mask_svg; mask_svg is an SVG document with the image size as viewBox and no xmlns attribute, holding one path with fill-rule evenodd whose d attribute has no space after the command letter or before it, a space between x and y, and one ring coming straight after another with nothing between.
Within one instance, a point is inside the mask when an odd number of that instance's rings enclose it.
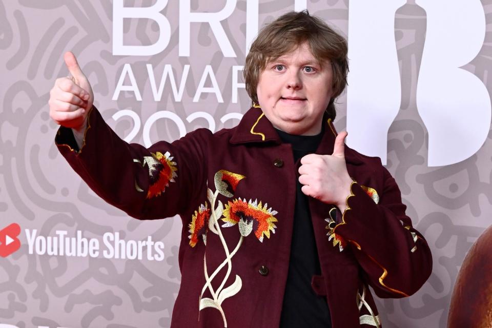
<instances>
[{"instance_id":1,"label":"outstretched maroon jacket sleeve at left with one embroidered flower","mask_svg":"<svg viewBox=\"0 0 492 328\"><path fill-rule=\"evenodd\" d=\"M174 216L206 184L206 145L211 132L199 129L149 149L121 140L98 110L89 112L78 149L71 129L61 127L55 144L70 166L101 198L138 219Z\"/></svg>"}]
</instances>

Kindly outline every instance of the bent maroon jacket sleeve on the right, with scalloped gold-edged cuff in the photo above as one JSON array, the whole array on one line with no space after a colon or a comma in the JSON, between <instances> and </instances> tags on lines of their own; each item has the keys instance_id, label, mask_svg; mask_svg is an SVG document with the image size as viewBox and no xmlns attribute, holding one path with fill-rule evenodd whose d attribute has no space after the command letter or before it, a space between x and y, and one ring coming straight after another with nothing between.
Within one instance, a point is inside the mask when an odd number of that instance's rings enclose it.
<instances>
[{"instance_id":1,"label":"bent maroon jacket sleeve on the right, with scalloped gold-edged cuff","mask_svg":"<svg viewBox=\"0 0 492 328\"><path fill-rule=\"evenodd\" d=\"M430 276L432 254L405 215L400 190L385 168L383 179L379 196L352 183L347 209L334 233L351 244L379 297L405 297L417 292Z\"/></svg>"}]
</instances>

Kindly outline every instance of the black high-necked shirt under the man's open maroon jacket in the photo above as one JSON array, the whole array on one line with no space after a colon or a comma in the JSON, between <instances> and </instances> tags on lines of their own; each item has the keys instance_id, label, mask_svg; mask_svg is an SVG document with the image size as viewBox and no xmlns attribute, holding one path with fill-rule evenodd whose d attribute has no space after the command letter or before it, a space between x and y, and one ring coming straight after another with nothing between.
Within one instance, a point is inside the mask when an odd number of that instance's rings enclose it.
<instances>
[{"instance_id":1,"label":"black high-necked shirt under the man's open maroon jacket","mask_svg":"<svg viewBox=\"0 0 492 328\"><path fill-rule=\"evenodd\" d=\"M284 143L292 146L296 173L300 166L300 159L307 154L314 153L323 136L323 131L314 136L292 135L280 130L277 130L277 133ZM296 177L298 176L297 173ZM280 328L331 327L330 310L326 299L316 295L311 287L313 275L320 275L321 269L308 196L302 193L302 186L299 180L296 180L294 229Z\"/></svg>"}]
</instances>

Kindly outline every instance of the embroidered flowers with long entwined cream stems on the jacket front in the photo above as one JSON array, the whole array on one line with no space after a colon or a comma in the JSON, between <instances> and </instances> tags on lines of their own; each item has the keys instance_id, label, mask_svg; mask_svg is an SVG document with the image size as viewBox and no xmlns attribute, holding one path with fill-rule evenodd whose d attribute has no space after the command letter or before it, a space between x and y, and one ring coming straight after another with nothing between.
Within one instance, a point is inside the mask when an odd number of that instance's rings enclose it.
<instances>
[{"instance_id":1,"label":"embroidered flowers with long entwined cream stems on the jacket front","mask_svg":"<svg viewBox=\"0 0 492 328\"><path fill-rule=\"evenodd\" d=\"M214 308L220 312L222 315L222 320L224 322L224 327L227 327L227 319L226 314L222 309L222 302L229 297L236 295L242 288L242 279L238 275L234 282L226 286L226 281L229 279L232 271L232 258L237 253L239 248L242 245L243 239L245 236L251 234L251 232L255 232L256 237L262 241L263 235L270 238L270 231L275 233L275 224L273 222L277 222L277 219L274 217L277 214L276 211L272 211L272 209L268 209L267 204L264 206L261 205L261 201L258 203L257 200L246 202L242 199L235 199L232 202L229 201L226 204L226 208L220 200L217 199L219 194L231 198L234 196L234 192L236 191L236 187L238 183L245 178L244 175L240 175L237 173L232 173L226 170L218 171L214 176L215 182L215 192L213 192L210 188L207 189L207 199L211 204L210 215L208 217L208 230L212 233L218 235L223 247L224 252L226 253L226 259L220 263L220 265L215 269L212 274L209 274L207 269L207 256L203 258L203 271L205 274L205 285L203 286L200 294L199 300L199 310L203 310L206 308ZM200 207L201 208L201 207ZM201 208L201 213L209 213L207 212L207 206ZM190 232L200 231L196 226L196 222L198 222L198 215L200 211L195 212L195 226L194 229L190 229ZM223 216L223 217L222 217ZM229 250L226 240L222 235L222 231L220 229L220 225L218 223L219 218L225 223L222 227L232 227L236 223L239 226L240 237L239 241L232 250ZM201 221L201 229L206 226L206 220ZM193 221L192 221L193 224ZM190 224L190 228L191 224ZM193 234L193 233L192 233ZM198 233L197 233L198 236ZM196 237L198 238L198 237ZM191 236L193 239L193 235ZM205 241L206 239L204 239ZM195 242L196 243L196 242ZM191 241L190 241L191 244ZM217 289L214 289L212 286L212 281L217 276L217 274L227 266L226 273ZM210 297L204 297L204 293L206 291L210 292Z\"/></svg>"}]
</instances>

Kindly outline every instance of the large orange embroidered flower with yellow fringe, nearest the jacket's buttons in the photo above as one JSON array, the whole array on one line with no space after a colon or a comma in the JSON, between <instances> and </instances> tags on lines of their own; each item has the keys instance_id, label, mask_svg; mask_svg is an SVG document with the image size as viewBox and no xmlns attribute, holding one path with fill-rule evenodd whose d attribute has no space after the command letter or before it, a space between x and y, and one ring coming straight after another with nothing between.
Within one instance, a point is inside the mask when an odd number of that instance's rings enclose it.
<instances>
[{"instance_id":1,"label":"large orange embroidered flower with yellow fringe, nearest the jacket's buttons","mask_svg":"<svg viewBox=\"0 0 492 328\"><path fill-rule=\"evenodd\" d=\"M275 233L274 217L278 212L268 208L267 203L261 205L261 201L246 201L245 199L234 199L226 204L223 212L222 227L232 227L236 223L242 236L248 236L251 232L255 233L256 238L263 242L263 236L270 238L270 231Z\"/></svg>"}]
</instances>

